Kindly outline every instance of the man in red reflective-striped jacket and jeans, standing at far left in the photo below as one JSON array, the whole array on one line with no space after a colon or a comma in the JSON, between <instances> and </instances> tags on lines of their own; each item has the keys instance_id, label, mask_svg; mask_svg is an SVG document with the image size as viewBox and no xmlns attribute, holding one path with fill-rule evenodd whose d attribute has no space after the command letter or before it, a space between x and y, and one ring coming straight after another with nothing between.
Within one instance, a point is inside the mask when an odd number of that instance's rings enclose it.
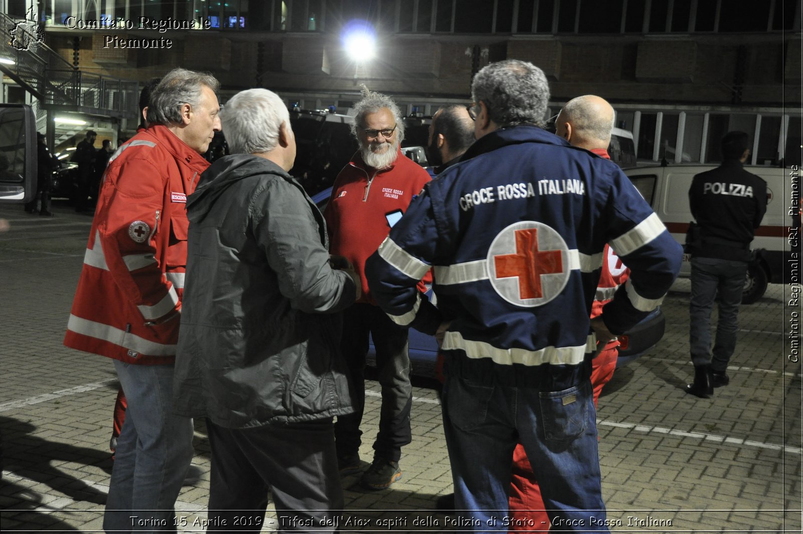
<instances>
[{"instance_id":1,"label":"man in red reflective-striped jacket and jeans, standing at far left","mask_svg":"<svg viewBox=\"0 0 803 534\"><path fill-rule=\"evenodd\" d=\"M186 196L220 130L218 81L182 68L151 95L148 129L112 156L64 344L114 360L128 398L104 529L175 532L193 457L192 420L173 414L173 361L187 255ZM136 524L132 523L132 517Z\"/></svg>"}]
</instances>

